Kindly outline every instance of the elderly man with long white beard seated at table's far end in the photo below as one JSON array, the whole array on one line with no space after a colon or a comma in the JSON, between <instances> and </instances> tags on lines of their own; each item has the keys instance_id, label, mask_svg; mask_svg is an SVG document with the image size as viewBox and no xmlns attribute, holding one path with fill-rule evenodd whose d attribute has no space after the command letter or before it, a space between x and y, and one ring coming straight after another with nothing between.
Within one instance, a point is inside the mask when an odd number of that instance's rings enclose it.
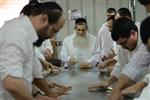
<instances>
[{"instance_id":1,"label":"elderly man with long white beard seated at table's far end","mask_svg":"<svg viewBox=\"0 0 150 100\"><path fill-rule=\"evenodd\" d=\"M63 41L61 60L67 64L66 66L79 63L81 66L91 67L87 60L92 56L96 37L88 33L87 22L84 18L78 18L75 21L74 29L74 33Z\"/></svg>"}]
</instances>

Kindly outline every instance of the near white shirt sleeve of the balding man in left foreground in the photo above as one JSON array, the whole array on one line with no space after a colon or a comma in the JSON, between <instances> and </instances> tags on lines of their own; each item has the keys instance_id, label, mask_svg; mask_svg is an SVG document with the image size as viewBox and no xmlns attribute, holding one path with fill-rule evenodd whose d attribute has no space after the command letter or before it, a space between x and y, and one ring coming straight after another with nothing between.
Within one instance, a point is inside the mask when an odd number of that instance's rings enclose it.
<instances>
[{"instance_id":1,"label":"near white shirt sleeve of the balding man in left foreground","mask_svg":"<svg viewBox=\"0 0 150 100\"><path fill-rule=\"evenodd\" d=\"M3 45L0 46L0 72L2 80L10 75L23 78L23 64L26 59L27 41L25 38L16 38L15 33L10 37L3 37ZM20 33L20 32L19 32Z\"/></svg>"}]
</instances>

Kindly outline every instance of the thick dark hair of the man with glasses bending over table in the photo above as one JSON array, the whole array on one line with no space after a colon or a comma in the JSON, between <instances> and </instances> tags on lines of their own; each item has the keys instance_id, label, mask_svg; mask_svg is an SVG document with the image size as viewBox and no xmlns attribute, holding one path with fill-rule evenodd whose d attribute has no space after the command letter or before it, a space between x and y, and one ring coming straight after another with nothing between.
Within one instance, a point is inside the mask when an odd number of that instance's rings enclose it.
<instances>
[{"instance_id":1,"label":"thick dark hair of the man with glasses bending over table","mask_svg":"<svg viewBox=\"0 0 150 100\"><path fill-rule=\"evenodd\" d=\"M120 37L129 38L131 30L138 31L134 22L125 17L119 18L114 21L111 37L114 41L117 41Z\"/></svg>"}]
</instances>

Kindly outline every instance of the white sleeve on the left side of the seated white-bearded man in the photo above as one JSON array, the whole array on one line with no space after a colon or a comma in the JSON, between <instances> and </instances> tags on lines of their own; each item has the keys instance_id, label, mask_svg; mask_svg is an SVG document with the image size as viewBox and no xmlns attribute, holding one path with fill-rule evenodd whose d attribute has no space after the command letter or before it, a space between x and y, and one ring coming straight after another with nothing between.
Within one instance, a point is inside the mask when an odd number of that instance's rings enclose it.
<instances>
[{"instance_id":1,"label":"white sleeve on the left side of the seated white-bearded man","mask_svg":"<svg viewBox=\"0 0 150 100\"><path fill-rule=\"evenodd\" d=\"M68 55L68 46L67 46L67 40L63 41L63 45L60 51L60 58L62 60L62 62L67 63L70 60L70 56Z\"/></svg>"}]
</instances>

